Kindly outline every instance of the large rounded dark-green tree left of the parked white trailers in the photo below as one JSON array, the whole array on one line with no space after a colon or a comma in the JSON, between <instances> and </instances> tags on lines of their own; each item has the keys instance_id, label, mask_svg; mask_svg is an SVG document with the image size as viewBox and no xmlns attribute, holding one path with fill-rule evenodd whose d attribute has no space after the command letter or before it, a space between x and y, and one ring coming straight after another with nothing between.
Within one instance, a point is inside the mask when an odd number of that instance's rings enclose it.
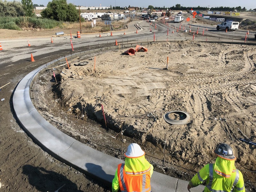
<instances>
[{"instance_id":1,"label":"large rounded dark-green tree left of the parked white trailers","mask_svg":"<svg viewBox=\"0 0 256 192\"><path fill-rule=\"evenodd\" d=\"M47 4L47 8L41 12L43 18L57 21L78 21L79 13L75 5L67 4L66 0L52 0Z\"/></svg>"}]
</instances>

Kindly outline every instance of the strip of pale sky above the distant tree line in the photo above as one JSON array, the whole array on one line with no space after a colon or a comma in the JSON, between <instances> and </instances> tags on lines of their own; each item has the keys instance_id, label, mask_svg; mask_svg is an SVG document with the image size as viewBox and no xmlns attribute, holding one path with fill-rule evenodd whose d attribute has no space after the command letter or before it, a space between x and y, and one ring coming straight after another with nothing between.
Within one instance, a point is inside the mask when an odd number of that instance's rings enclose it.
<instances>
[{"instance_id":1,"label":"strip of pale sky above the distant tree line","mask_svg":"<svg viewBox=\"0 0 256 192\"><path fill-rule=\"evenodd\" d=\"M10 0L8 0L10 1ZM19 1L19 0L16 0ZM44 6L47 6L49 0L32 0L33 4L43 4ZM255 0L247 0L247 1L238 1L238 0L214 0L214 1L202 1L202 0L183 0L183 1L166 1L166 0L129 0L129 1L124 1L124 0L91 0L91 1L83 1L83 0L67 0L68 3L72 3L75 5L80 5L80 6L120 6L120 7L125 7L125 6L132 6L132 7L141 7L141 8L148 8L148 5L153 5L154 7L172 7L175 6L176 4L180 4L181 6L184 7L238 7L241 6L242 8L246 8L247 10L249 9L256 9L256 1Z\"/></svg>"}]
</instances>

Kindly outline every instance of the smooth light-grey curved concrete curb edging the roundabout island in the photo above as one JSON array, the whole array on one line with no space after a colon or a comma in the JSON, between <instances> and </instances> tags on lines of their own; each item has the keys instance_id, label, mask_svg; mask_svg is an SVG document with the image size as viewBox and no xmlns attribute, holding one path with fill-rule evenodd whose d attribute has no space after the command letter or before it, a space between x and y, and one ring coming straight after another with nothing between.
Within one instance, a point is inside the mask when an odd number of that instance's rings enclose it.
<instances>
[{"instance_id":1,"label":"smooth light-grey curved concrete curb edging the roundabout island","mask_svg":"<svg viewBox=\"0 0 256 192\"><path fill-rule=\"evenodd\" d=\"M87 53L89 51L83 52L83 55ZM81 53L74 55L79 56L79 54L81 56ZM67 58L71 58L71 55ZM64 60L64 57L53 60L46 66ZM47 69L46 66L43 65L30 72L20 81L14 91L13 108L20 124L28 135L50 155L110 187L117 165L124 161L92 149L66 135L47 122L34 107L30 99L30 90L39 74ZM153 192L183 192L187 191L187 185L188 181L155 171L151 179ZM204 186L198 186L191 191L202 191L203 189Z\"/></svg>"}]
</instances>

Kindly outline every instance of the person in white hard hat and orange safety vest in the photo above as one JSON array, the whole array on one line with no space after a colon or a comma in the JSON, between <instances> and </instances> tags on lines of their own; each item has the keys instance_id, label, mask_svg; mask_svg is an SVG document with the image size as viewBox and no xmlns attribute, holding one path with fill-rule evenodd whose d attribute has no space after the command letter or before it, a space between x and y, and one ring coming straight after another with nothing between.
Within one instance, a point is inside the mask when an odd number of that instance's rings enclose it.
<instances>
[{"instance_id":1,"label":"person in white hard hat and orange safety vest","mask_svg":"<svg viewBox=\"0 0 256 192\"><path fill-rule=\"evenodd\" d=\"M150 192L150 178L153 165L145 159L145 152L137 143L128 146L124 153L125 163L119 164L112 181L112 192Z\"/></svg>"}]
</instances>

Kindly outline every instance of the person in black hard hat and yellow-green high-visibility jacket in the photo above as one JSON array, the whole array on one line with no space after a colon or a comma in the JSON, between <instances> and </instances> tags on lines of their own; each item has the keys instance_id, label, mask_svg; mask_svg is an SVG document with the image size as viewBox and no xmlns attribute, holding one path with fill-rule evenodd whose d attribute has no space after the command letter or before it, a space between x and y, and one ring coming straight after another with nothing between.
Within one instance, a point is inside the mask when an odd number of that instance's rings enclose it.
<instances>
[{"instance_id":1,"label":"person in black hard hat and yellow-green high-visibility jacket","mask_svg":"<svg viewBox=\"0 0 256 192\"><path fill-rule=\"evenodd\" d=\"M204 192L245 192L243 175L235 167L232 148L223 143L215 148L214 153L218 156L215 164L207 164L196 173L188 184L188 191L206 180Z\"/></svg>"}]
</instances>

